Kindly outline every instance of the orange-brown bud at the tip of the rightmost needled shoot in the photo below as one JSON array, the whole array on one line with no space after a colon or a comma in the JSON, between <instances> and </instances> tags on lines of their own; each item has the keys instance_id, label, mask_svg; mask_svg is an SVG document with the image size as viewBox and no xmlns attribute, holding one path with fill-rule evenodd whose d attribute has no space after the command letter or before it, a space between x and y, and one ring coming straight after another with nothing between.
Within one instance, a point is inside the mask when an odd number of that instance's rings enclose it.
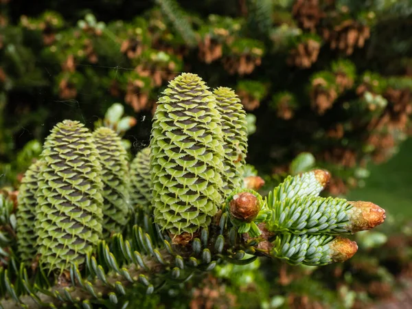
<instances>
[{"instance_id":1,"label":"orange-brown bud at the tip of the rightmost needled shoot","mask_svg":"<svg viewBox=\"0 0 412 309\"><path fill-rule=\"evenodd\" d=\"M373 229L385 221L385 209L371 202L349 202L353 208L348 211L351 231L365 231Z\"/></svg>"}]
</instances>

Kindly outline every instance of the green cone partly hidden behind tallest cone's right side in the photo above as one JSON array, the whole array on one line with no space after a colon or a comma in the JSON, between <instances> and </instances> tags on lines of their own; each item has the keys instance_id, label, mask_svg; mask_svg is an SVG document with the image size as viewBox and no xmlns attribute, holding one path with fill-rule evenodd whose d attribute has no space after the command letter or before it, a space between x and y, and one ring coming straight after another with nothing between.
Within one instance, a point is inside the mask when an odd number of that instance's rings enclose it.
<instances>
[{"instance_id":1,"label":"green cone partly hidden behind tallest cone's right side","mask_svg":"<svg viewBox=\"0 0 412 309\"><path fill-rule=\"evenodd\" d=\"M243 167L247 154L246 112L238 95L232 89L218 87L213 93L222 119L223 148L225 148L223 190L225 194L230 194L237 187L241 187L243 181Z\"/></svg>"}]
</instances>

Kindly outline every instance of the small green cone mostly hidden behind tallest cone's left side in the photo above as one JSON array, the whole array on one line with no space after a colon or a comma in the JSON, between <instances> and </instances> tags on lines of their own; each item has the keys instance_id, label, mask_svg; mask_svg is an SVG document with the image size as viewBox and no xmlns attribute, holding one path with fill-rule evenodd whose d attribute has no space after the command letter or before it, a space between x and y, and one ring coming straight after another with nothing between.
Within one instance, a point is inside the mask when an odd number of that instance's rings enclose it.
<instances>
[{"instance_id":1,"label":"small green cone mostly hidden behind tallest cone's left side","mask_svg":"<svg viewBox=\"0 0 412 309\"><path fill-rule=\"evenodd\" d=\"M135 159L130 164L130 183L130 198L133 207L136 210L142 207L147 212L152 201L150 147L137 152Z\"/></svg>"}]
</instances>

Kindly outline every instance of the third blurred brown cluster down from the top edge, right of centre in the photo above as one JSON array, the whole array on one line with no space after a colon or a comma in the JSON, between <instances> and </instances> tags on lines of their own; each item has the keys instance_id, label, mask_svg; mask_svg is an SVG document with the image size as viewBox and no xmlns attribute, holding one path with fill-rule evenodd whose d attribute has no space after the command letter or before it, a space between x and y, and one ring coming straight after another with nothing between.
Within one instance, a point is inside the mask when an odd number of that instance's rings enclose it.
<instances>
[{"instance_id":1,"label":"third blurred brown cluster down from the top edge, right of centre","mask_svg":"<svg viewBox=\"0 0 412 309\"><path fill-rule=\"evenodd\" d=\"M315 78L312 81L310 104L319 115L323 115L325 111L331 108L336 98L338 98L335 89L325 89L326 84L327 82L323 78Z\"/></svg>"}]
</instances>

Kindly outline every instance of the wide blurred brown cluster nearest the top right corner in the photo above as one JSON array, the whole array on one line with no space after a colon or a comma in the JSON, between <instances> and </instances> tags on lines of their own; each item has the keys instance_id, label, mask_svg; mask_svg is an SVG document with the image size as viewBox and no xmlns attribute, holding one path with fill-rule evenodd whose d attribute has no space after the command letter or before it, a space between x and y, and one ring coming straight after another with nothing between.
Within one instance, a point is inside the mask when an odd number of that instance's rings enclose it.
<instances>
[{"instance_id":1,"label":"wide blurred brown cluster nearest the top right corner","mask_svg":"<svg viewBox=\"0 0 412 309\"><path fill-rule=\"evenodd\" d=\"M323 38L330 42L331 49L339 49L348 56L354 52L355 47L362 48L370 36L370 29L357 21L349 19L336 25L333 30L325 27L322 29Z\"/></svg>"}]
</instances>

